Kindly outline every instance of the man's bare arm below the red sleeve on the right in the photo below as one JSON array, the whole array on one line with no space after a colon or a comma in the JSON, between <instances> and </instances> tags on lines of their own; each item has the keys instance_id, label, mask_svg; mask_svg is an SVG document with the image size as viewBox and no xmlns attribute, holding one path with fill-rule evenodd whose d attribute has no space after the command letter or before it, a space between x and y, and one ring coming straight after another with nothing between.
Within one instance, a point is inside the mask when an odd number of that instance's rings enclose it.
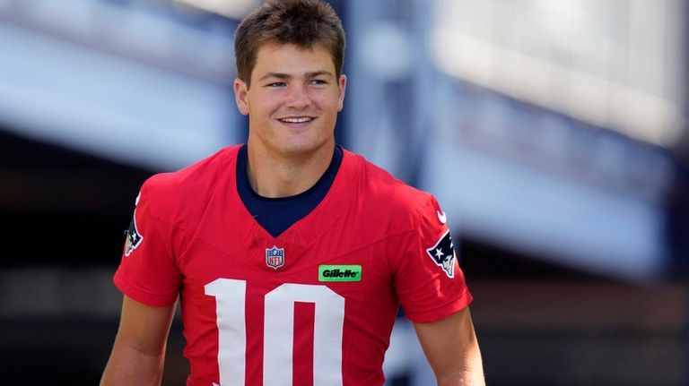
<instances>
[{"instance_id":1,"label":"man's bare arm below the red sleeve on the right","mask_svg":"<svg viewBox=\"0 0 689 386\"><path fill-rule=\"evenodd\" d=\"M437 322L414 323L439 386L484 386L481 351L469 308Z\"/></svg>"}]
</instances>

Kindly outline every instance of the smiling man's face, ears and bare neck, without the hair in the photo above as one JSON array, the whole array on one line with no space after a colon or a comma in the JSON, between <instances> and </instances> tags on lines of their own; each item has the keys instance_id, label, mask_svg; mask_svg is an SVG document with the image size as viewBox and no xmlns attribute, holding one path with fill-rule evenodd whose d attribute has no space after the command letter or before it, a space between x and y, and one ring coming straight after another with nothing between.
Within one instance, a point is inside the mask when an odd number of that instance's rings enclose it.
<instances>
[{"instance_id":1,"label":"smiling man's face, ears and bare neck, without the hair","mask_svg":"<svg viewBox=\"0 0 689 386\"><path fill-rule=\"evenodd\" d=\"M346 77L319 43L268 42L254 55L249 78L234 84L240 112L249 115L251 186L264 197L302 193L333 159Z\"/></svg>"}]
</instances>

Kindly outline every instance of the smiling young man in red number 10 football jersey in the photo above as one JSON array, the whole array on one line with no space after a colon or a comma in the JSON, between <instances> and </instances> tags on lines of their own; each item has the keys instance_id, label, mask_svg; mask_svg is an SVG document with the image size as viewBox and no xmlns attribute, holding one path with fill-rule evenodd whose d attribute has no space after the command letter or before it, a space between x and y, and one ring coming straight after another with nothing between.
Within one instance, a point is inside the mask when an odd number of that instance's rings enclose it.
<instances>
[{"instance_id":1,"label":"smiling young man in red number 10 football jersey","mask_svg":"<svg viewBox=\"0 0 689 386\"><path fill-rule=\"evenodd\" d=\"M438 384L484 384L444 212L335 144L346 78L332 8L268 1L235 48L249 141L144 183L101 385L161 382L178 296L191 386L380 385L400 302Z\"/></svg>"}]
</instances>

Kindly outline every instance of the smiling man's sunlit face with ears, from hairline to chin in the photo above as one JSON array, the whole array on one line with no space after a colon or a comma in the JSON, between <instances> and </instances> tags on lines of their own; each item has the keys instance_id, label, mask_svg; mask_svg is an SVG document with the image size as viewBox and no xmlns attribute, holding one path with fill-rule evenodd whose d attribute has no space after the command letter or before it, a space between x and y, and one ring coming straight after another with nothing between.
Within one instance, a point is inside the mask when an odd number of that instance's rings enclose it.
<instances>
[{"instance_id":1,"label":"smiling man's sunlit face with ears, from hairline to chin","mask_svg":"<svg viewBox=\"0 0 689 386\"><path fill-rule=\"evenodd\" d=\"M331 151L345 84L326 47L260 47L250 89L234 84L240 112L249 115L249 148L283 157Z\"/></svg>"}]
</instances>

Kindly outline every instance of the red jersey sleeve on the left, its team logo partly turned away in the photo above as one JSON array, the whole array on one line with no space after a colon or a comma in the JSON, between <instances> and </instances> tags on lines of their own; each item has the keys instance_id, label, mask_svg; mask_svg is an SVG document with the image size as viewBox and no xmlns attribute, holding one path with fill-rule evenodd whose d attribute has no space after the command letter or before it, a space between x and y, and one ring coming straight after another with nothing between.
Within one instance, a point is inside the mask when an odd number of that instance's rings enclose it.
<instances>
[{"instance_id":1,"label":"red jersey sleeve on the left, its team logo partly turned away","mask_svg":"<svg viewBox=\"0 0 689 386\"><path fill-rule=\"evenodd\" d=\"M172 305L177 300L181 275L171 248L172 227L160 218L159 200L144 183L136 198L134 216L126 231L125 247L113 281L126 296L145 305ZM160 211L160 210L158 210Z\"/></svg>"}]
</instances>

